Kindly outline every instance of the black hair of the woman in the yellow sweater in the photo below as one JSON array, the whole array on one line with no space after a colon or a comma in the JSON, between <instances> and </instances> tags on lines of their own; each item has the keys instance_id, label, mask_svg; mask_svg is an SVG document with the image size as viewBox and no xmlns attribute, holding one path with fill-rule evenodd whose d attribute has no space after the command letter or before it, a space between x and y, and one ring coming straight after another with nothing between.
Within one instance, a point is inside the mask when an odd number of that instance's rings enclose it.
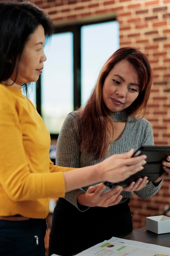
<instances>
[{"instance_id":1,"label":"black hair of the woman in the yellow sweater","mask_svg":"<svg viewBox=\"0 0 170 256\"><path fill-rule=\"evenodd\" d=\"M27 1L0 2L0 82L9 79L15 67L17 76L26 42L38 25L44 27L46 40L51 38L53 22L38 6Z\"/></svg>"}]
</instances>

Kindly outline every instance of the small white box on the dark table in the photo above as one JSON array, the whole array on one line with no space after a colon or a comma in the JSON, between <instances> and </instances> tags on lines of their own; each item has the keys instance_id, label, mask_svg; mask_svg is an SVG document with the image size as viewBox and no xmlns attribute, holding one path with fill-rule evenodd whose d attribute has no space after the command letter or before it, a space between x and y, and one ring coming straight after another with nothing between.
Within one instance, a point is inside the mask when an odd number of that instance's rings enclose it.
<instances>
[{"instance_id":1,"label":"small white box on the dark table","mask_svg":"<svg viewBox=\"0 0 170 256\"><path fill-rule=\"evenodd\" d=\"M170 217L159 215L146 217L146 229L156 233L170 233Z\"/></svg>"}]
</instances>

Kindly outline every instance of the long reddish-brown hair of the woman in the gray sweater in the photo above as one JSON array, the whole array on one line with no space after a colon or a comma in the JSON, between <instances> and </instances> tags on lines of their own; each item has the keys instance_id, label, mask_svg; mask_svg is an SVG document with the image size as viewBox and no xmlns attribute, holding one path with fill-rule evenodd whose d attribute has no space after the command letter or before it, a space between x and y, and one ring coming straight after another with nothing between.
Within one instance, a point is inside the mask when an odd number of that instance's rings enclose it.
<instances>
[{"instance_id":1,"label":"long reddish-brown hair of the woman in the gray sweater","mask_svg":"<svg viewBox=\"0 0 170 256\"><path fill-rule=\"evenodd\" d=\"M145 54L139 49L122 47L114 52L106 61L99 73L95 88L84 108L79 108L75 128L79 127L80 150L93 155L94 159L102 159L108 152L114 124L110 118L110 110L104 104L102 89L110 70L122 60L127 60L135 69L139 79L139 95L126 108L127 115L135 117L139 112L146 112L152 85L152 69Z\"/></svg>"}]
</instances>

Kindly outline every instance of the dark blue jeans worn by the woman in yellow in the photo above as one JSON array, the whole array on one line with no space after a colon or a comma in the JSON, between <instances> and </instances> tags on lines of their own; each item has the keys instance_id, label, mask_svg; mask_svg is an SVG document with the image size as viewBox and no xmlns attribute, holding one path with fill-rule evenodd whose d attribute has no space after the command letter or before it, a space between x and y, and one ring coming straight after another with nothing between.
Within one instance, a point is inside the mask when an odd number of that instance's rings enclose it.
<instances>
[{"instance_id":1,"label":"dark blue jeans worn by the woman in yellow","mask_svg":"<svg viewBox=\"0 0 170 256\"><path fill-rule=\"evenodd\" d=\"M45 219L0 220L0 255L45 256L45 234Z\"/></svg>"}]
</instances>

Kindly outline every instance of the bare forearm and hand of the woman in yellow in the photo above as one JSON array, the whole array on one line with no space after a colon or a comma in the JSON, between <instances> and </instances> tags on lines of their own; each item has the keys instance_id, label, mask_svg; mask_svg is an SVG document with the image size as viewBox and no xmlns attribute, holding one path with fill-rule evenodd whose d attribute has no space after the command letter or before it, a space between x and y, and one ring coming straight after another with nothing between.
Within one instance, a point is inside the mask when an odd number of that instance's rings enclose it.
<instances>
[{"instance_id":1,"label":"bare forearm and hand of the woman in yellow","mask_svg":"<svg viewBox=\"0 0 170 256\"><path fill-rule=\"evenodd\" d=\"M132 157L135 153L131 149L127 153L115 154L104 161L91 166L66 170L63 172L65 180L65 192L84 187L95 182L108 181L117 183L126 180L131 175L141 171L146 164L146 155Z\"/></svg>"}]
</instances>

